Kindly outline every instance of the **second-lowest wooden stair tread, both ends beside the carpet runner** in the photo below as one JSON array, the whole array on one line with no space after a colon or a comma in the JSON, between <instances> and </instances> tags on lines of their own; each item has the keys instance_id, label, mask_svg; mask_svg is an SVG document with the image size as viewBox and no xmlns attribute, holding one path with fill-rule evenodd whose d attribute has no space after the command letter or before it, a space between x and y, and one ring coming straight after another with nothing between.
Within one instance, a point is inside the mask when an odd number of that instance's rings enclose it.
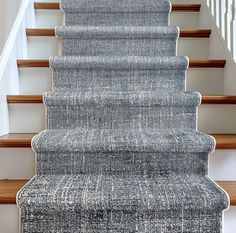
<instances>
[{"instance_id":1,"label":"second-lowest wooden stair tread, both ends beside the carpet runner","mask_svg":"<svg viewBox=\"0 0 236 233\"><path fill-rule=\"evenodd\" d=\"M36 133L10 133L0 136L0 148L31 147ZM236 134L211 134L216 139L216 149L236 149Z\"/></svg>"}]
</instances>

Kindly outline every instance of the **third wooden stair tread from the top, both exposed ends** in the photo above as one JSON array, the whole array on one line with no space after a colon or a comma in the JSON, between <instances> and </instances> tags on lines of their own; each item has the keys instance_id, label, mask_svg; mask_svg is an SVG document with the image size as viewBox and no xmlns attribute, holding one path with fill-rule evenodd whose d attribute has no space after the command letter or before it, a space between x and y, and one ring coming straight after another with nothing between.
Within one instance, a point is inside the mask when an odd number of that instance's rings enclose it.
<instances>
[{"instance_id":1,"label":"third wooden stair tread from the top, both exposed ends","mask_svg":"<svg viewBox=\"0 0 236 233\"><path fill-rule=\"evenodd\" d=\"M225 64L226 60L190 60L189 68L224 68ZM17 65L19 68L49 67L49 60L19 59Z\"/></svg>"}]
</instances>

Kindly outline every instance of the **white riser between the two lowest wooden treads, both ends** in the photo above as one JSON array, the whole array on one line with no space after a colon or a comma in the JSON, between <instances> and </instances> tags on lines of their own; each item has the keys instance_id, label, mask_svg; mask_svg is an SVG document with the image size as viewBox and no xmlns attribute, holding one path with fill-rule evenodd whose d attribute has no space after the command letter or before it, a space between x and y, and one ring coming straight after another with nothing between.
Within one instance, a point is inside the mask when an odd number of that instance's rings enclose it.
<instances>
[{"instance_id":1,"label":"white riser between the two lowest wooden treads, both ends","mask_svg":"<svg viewBox=\"0 0 236 233\"><path fill-rule=\"evenodd\" d=\"M11 169L9 169L9 167ZM236 180L236 150L216 150L209 157L213 180ZM30 179L35 175L35 153L31 148L0 148L0 179Z\"/></svg>"}]
</instances>

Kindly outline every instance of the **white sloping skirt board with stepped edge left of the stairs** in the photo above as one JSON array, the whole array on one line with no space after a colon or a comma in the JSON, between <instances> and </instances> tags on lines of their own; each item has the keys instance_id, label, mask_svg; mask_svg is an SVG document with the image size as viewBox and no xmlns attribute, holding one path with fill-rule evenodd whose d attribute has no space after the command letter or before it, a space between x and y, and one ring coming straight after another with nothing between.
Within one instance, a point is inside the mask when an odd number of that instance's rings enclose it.
<instances>
[{"instance_id":1,"label":"white sloping skirt board with stepped edge left of the stairs","mask_svg":"<svg viewBox=\"0 0 236 233\"><path fill-rule=\"evenodd\" d=\"M6 95L19 94L18 58L27 58L26 28L35 26L33 0L22 0L0 57L0 135L9 131Z\"/></svg>"}]
</instances>

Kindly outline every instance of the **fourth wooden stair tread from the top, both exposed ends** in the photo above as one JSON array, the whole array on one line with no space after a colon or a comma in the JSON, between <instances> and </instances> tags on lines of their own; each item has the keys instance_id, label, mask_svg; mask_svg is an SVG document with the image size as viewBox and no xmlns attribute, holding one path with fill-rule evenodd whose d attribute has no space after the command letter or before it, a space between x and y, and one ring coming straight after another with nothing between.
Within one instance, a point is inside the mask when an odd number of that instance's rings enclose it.
<instances>
[{"instance_id":1,"label":"fourth wooden stair tread from the top, both exposed ends","mask_svg":"<svg viewBox=\"0 0 236 233\"><path fill-rule=\"evenodd\" d=\"M42 95L8 95L7 102L12 103L43 103ZM202 96L202 104L236 104L236 96Z\"/></svg>"}]
</instances>

